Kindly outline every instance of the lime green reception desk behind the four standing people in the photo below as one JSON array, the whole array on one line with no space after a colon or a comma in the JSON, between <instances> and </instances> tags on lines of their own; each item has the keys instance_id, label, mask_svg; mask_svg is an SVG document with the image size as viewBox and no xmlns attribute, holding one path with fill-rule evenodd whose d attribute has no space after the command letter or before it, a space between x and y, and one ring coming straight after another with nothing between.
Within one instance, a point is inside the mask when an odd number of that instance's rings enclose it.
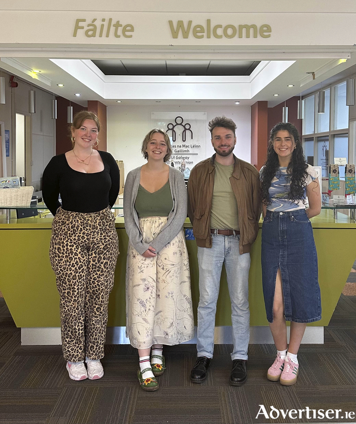
<instances>
[{"instance_id":1,"label":"lime green reception desk behind the four standing people","mask_svg":"<svg viewBox=\"0 0 356 424\"><path fill-rule=\"evenodd\" d=\"M343 286L356 258L356 224L343 214L338 222L333 211L322 210L312 218L319 264L322 319L308 327L322 328L329 324ZM18 327L40 331L60 326L59 295L49 262L50 218L0 220L0 290ZM261 227L260 223L260 227ZM191 228L187 219L185 228ZM115 284L110 294L110 327L125 326L125 267L128 237L124 218L116 218L120 255L115 271ZM187 240L192 281L194 316L199 300L197 248ZM268 326L265 317L261 282L261 231L251 251L249 300L252 327ZM223 269L216 315L216 326L231 325L231 308L226 274ZM49 337L49 342L51 338ZM53 339L54 340L54 339ZM262 341L260 341L262 342ZM40 342L39 342L40 343ZM51 343L49 343L51 344Z\"/></svg>"}]
</instances>

